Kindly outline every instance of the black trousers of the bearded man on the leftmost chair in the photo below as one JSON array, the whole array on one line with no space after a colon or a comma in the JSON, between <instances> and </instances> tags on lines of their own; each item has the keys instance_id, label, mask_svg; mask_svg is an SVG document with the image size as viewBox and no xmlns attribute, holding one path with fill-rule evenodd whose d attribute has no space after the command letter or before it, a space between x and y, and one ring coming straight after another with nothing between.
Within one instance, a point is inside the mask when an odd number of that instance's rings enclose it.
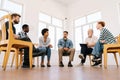
<instances>
[{"instance_id":1,"label":"black trousers of the bearded man on the leftmost chair","mask_svg":"<svg viewBox=\"0 0 120 80\"><path fill-rule=\"evenodd\" d=\"M23 41L28 41L28 42L32 42L30 38L25 37L25 38L21 38L20 40ZM29 48L22 48L24 50L24 62L23 65L29 65ZM35 50L35 46L33 45L33 51Z\"/></svg>"}]
</instances>

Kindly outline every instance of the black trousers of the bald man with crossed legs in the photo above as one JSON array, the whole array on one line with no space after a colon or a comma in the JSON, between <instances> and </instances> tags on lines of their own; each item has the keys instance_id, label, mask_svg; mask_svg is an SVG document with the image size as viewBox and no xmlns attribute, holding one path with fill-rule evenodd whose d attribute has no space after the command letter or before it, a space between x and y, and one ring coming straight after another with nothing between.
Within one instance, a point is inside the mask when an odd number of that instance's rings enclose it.
<instances>
[{"instance_id":1,"label":"black trousers of the bald man with crossed legs","mask_svg":"<svg viewBox=\"0 0 120 80\"><path fill-rule=\"evenodd\" d=\"M86 61L86 56L92 53L92 48L88 47L81 47L81 54L83 54L84 59L81 60L81 63L85 63Z\"/></svg>"}]
</instances>

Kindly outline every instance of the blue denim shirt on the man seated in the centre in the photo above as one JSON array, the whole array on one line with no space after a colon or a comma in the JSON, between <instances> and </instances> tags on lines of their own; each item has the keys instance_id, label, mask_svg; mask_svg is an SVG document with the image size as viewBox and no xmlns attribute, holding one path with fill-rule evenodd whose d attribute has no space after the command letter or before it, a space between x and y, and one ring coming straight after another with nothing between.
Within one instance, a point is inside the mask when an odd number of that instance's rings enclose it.
<instances>
[{"instance_id":1,"label":"blue denim shirt on the man seated in the centre","mask_svg":"<svg viewBox=\"0 0 120 80\"><path fill-rule=\"evenodd\" d=\"M58 41L58 48L73 48L73 43L70 39L67 39L66 41L62 38Z\"/></svg>"}]
</instances>

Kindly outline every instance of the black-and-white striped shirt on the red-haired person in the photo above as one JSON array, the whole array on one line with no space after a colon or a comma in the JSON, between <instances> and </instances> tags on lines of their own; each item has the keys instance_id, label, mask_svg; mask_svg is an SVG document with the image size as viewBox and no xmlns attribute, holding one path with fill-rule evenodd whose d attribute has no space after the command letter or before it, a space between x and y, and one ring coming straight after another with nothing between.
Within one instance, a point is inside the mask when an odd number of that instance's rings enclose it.
<instances>
[{"instance_id":1,"label":"black-and-white striped shirt on the red-haired person","mask_svg":"<svg viewBox=\"0 0 120 80\"><path fill-rule=\"evenodd\" d=\"M107 44L111 44L111 43L116 42L113 34L106 28L103 28L101 30L99 40L105 40L105 43L107 43Z\"/></svg>"}]
</instances>

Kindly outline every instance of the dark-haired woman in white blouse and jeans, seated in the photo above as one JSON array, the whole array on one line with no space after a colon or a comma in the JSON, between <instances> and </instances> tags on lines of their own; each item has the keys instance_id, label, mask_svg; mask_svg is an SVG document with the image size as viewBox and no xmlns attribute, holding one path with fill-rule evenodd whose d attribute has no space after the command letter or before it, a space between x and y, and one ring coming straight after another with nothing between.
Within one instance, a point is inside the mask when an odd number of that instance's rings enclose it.
<instances>
[{"instance_id":1,"label":"dark-haired woman in white blouse and jeans, seated","mask_svg":"<svg viewBox=\"0 0 120 80\"><path fill-rule=\"evenodd\" d=\"M51 48L52 45L50 44L50 38L49 36L49 30L47 28L44 28L42 31L42 37L39 39L39 47L43 48L43 50L46 50L46 55L47 55L47 67L51 67L50 65L50 57L51 57ZM42 56L41 58L41 67L45 67L44 65L44 57Z\"/></svg>"}]
</instances>

